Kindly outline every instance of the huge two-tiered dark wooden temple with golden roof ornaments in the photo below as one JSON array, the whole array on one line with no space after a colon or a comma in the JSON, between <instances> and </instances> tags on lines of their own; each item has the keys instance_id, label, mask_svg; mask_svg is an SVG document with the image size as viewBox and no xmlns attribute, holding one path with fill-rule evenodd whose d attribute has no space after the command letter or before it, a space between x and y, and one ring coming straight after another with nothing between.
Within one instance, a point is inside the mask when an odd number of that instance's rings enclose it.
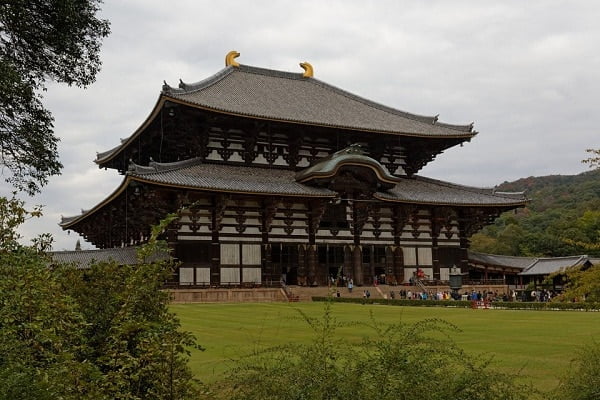
<instances>
[{"instance_id":1,"label":"huge two-tiered dark wooden temple with golden roof ornaments","mask_svg":"<svg viewBox=\"0 0 600 400\"><path fill-rule=\"evenodd\" d=\"M355 285L446 281L467 269L469 237L522 193L417 175L470 141L450 125L387 107L313 76L240 65L164 84L141 126L95 162L124 176L105 200L61 226L100 249L165 238L180 285Z\"/></svg>"}]
</instances>

